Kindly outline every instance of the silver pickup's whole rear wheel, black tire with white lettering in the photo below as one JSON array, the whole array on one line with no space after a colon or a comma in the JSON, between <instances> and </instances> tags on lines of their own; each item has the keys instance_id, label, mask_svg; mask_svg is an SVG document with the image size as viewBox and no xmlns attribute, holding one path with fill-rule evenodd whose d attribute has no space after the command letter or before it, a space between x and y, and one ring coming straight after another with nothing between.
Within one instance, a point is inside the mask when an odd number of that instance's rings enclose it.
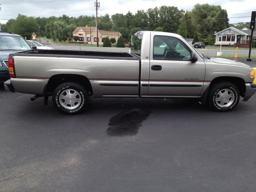
<instances>
[{"instance_id":1,"label":"silver pickup's whole rear wheel, black tire with white lettering","mask_svg":"<svg viewBox=\"0 0 256 192\"><path fill-rule=\"evenodd\" d=\"M86 108L88 92L80 84L66 82L56 87L52 94L52 102L64 114L78 114Z\"/></svg>"}]
</instances>

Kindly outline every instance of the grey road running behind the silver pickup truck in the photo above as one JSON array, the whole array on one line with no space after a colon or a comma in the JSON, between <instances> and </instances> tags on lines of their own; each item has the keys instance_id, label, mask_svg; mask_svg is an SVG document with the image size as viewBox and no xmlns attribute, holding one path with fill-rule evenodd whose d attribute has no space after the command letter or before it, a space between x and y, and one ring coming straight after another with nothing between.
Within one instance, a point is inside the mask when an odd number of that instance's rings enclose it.
<instances>
[{"instance_id":1,"label":"grey road running behind the silver pickup truck","mask_svg":"<svg viewBox=\"0 0 256 192\"><path fill-rule=\"evenodd\" d=\"M94 50L94 51L119 51L119 52L129 52L130 48L107 48L107 47L90 47L90 46L84 46L83 44L81 46L79 45L63 45L63 44L54 44L50 45L50 47L53 47L55 49L60 50ZM200 53L206 55L206 56L217 56L217 52L220 52L217 47L206 47L205 49L197 49ZM232 55L235 56L236 54L236 48L230 47L222 47L222 55ZM238 56L248 56L249 49L248 48L239 48L238 49ZM256 49L252 49L251 56L256 56Z\"/></svg>"}]
</instances>

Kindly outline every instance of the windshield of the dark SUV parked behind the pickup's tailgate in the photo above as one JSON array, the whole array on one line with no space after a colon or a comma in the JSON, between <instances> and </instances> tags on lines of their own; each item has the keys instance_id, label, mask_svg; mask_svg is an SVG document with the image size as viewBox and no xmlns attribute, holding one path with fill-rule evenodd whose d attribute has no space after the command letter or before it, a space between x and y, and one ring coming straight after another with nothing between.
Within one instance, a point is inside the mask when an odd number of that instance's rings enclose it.
<instances>
[{"instance_id":1,"label":"windshield of the dark SUV parked behind the pickup's tailgate","mask_svg":"<svg viewBox=\"0 0 256 192\"><path fill-rule=\"evenodd\" d=\"M21 36L1 35L0 50L29 50L31 47Z\"/></svg>"}]
</instances>

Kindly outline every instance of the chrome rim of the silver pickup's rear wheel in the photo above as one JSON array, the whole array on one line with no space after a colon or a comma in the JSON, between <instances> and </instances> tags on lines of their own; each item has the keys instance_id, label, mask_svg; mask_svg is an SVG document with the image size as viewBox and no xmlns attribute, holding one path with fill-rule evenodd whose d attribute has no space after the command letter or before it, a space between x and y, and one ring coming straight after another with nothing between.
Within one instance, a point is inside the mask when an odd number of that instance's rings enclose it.
<instances>
[{"instance_id":1,"label":"chrome rim of the silver pickup's rear wheel","mask_svg":"<svg viewBox=\"0 0 256 192\"><path fill-rule=\"evenodd\" d=\"M81 104L81 95L74 89L67 89L60 93L60 105L65 109L73 110Z\"/></svg>"}]
</instances>

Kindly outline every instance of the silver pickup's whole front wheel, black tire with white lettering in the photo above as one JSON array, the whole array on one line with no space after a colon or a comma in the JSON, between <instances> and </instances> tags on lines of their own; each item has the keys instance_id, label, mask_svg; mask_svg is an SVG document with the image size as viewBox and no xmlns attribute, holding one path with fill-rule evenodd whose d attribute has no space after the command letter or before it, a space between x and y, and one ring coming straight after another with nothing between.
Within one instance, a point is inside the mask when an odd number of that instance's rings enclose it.
<instances>
[{"instance_id":1,"label":"silver pickup's whole front wheel, black tire with white lettering","mask_svg":"<svg viewBox=\"0 0 256 192\"><path fill-rule=\"evenodd\" d=\"M212 110L228 112L233 110L240 99L238 88L230 82L218 82L210 87L208 103Z\"/></svg>"}]
</instances>

